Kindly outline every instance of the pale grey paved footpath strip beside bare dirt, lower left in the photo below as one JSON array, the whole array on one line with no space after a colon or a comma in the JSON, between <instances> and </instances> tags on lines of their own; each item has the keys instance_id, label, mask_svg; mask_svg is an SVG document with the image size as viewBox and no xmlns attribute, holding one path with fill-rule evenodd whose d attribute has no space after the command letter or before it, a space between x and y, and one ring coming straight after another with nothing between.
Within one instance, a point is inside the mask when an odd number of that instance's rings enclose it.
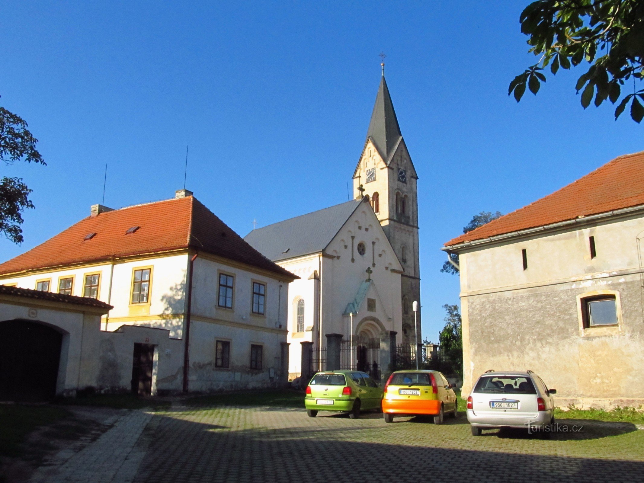
<instances>
[{"instance_id":1,"label":"pale grey paved footpath strip beside bare dirt, lower left","mask_svg":"<svg viewBox=\"0 0 644 483\"><path fill-rule=\"evenodd\" d=\"M71 446L59 451L35 471L30 482L131 482L159 421L151 422L151 418L151 413L143 411L119 412L104 421L112 427L97 440L81 450Z\"/></svg>"}]
</instances>

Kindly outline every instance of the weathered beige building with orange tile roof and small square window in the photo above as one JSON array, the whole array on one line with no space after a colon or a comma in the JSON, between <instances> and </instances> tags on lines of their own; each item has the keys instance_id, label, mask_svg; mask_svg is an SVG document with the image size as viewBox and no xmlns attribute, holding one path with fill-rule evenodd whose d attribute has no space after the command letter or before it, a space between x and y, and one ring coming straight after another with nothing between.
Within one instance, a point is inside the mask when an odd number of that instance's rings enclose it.
<instances>
[{"instance_id":1,"label":"weathered beige building with orange tile roof and small square window","mask_svg":"<svg viewBox=\"0 0 644 483\"><path fill-rule=\"evenodd\" d=\"M459 255L467 395L526 370L560 406L644 405L644 153L446 243Z\"/></svg>"}]
</instances>

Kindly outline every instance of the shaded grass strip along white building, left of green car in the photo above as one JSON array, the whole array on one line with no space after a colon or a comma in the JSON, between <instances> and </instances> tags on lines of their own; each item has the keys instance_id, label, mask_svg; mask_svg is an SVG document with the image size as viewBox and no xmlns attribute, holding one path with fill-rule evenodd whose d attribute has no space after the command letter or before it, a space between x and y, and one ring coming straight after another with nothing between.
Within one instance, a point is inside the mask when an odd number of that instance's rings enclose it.
<instances>
[{"instance_id":1,"label":"shaded grass strip along white building, left of green car","mask_svg":"<svg viewBox=\"0 0 644 483\"><path fill-rule=\"evenodd\" d=\"M256 391L211 394L185 400L190 406L269 406L304 408L304 393L298 391Z\"/></svg>"}]
</instances>

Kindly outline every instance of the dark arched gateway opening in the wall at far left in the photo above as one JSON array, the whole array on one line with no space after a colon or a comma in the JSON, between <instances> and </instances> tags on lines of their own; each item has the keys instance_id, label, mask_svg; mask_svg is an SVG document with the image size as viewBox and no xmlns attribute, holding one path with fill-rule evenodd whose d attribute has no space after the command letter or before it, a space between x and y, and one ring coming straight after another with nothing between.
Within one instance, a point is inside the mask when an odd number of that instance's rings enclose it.
<instances>
[{"instance_id":1,"label":"dark arched gateway opening in the wall at far left","mask_svg":"<svg viewBox=\"0 0 644 483\"><path fill-rule=\"evenodd\" d=\"M27 320L0 322L0 401L50 401L56 395L62 334Z\"/></svg>"}]
</instances>

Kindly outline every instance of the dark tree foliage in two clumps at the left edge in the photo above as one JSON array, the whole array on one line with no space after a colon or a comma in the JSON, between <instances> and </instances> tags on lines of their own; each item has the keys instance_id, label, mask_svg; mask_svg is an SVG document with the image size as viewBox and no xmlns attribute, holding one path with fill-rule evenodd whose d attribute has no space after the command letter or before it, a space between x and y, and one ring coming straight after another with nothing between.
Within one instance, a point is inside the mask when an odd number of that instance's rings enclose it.
<instances>
[{"instance_id":1,"label":"dark tree foliage in two clumps at the left edge","mask_svg":"<svg viewBox=\"0 0 644 483\"><path fill-rule=\"evenodd\" d=\"M27 129L23 118L0 107L0 161L5 166L15 161L34 162L45 165L43 156L37 151L38 140ZM32 193L21 178L0 180L0 233L14 243L23 242L22 213L33 208L28 196Z\"/></svg>"}]
</instances>

